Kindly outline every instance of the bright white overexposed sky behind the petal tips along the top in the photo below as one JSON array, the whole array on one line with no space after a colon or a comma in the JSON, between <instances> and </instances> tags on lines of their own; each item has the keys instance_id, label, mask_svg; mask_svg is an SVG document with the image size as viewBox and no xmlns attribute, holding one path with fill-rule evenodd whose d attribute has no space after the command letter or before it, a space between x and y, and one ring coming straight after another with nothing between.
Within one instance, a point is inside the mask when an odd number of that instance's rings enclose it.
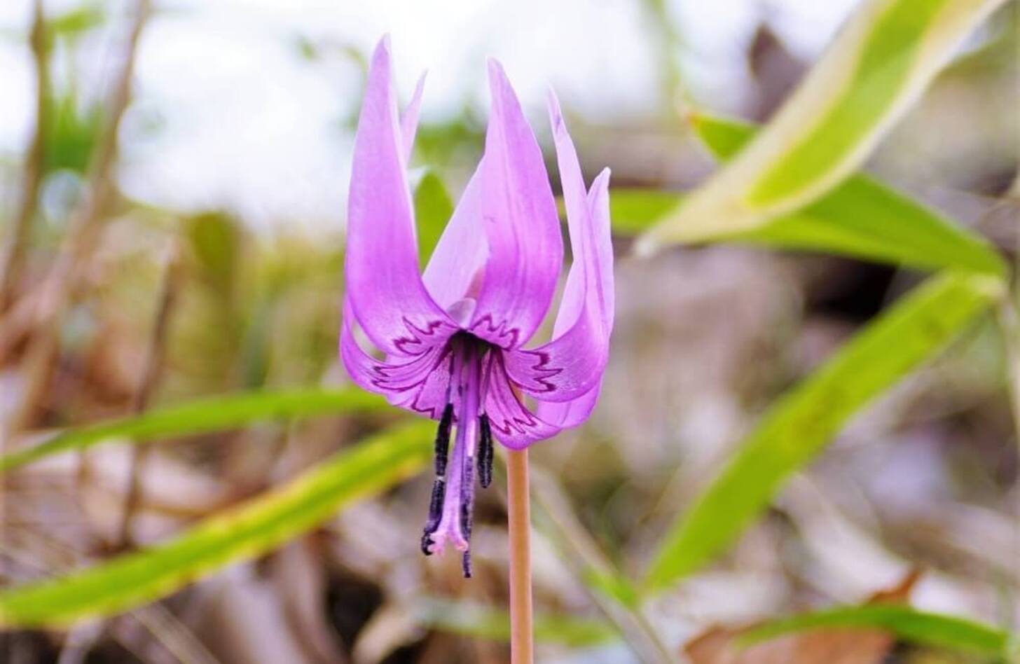
<instances>
[{"instance_id":1,"label":"bright white overexposed sky behind the petal tips along the top","mask_svg":"<svg viewBox=\"0 0 1020 664\"><path fill-rule=\"evenodd\" d=\"M0 155L17 159L32 123L34 81L27 33L31 0L0 1ZM813 58L853 0L674 0L686 42L685 82L704 103L738 112L747 93L742 48L766 16L789 48ZM56 13L75 0L47 0ZM131 6L108 0L108 6ZM159 118L153 136L125 141L121 185L181 210L226 207L253 224L297 229L339 224L357 67L334 56L303 60L299 38L368 52L393 38L406 99L428 69L424 121L484 108L484 59L506 67L536 122L545 90L593 120L661 108L661 72L648 15L635 0L162 0L140 50L128 126ZM123 22L90 43L83 63L103 80L116 62Z\"/></svg>"}]
</instances>

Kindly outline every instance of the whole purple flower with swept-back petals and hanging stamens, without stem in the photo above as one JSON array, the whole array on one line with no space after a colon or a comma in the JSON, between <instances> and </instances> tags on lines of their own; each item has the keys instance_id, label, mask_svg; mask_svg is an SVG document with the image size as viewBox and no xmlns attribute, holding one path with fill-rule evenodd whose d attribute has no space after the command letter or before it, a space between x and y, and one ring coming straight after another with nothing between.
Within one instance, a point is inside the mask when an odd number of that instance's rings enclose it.
<instances>
[{"instance_id":1,"label":"whole purple flower with swept-back petals and hanging stamens, without stem","mask_svg":"<svg viewBox=\"0 0 1020 664\"><path fill-rule=\"evenodd\" d=\"M354 145L340 352L356 384L439 420L421 548L429 555L452 543L470 576L475 462L488 487L494 438L508 448L527 447L582 422L599 397L613 325L609 170L585 191L550 93L574 260L552 341L524 348L549 310L563 263L539 144L502 67L491 61L484 155L419 274L407 161L422 83L400 117L385 38L372 55ZM357 344L355 323L385 359ZM521 395L537 407L525 406Z\"/></svg>"}]
</instances>

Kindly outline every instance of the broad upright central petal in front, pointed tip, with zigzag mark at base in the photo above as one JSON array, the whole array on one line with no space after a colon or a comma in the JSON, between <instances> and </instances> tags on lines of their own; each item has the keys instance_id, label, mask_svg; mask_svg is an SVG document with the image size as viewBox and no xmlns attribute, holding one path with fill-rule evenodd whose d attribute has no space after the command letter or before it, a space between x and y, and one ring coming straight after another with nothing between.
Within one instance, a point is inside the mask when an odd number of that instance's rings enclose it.
<instances>
[{"instance_id":1,"label":"broad upright central petal in front, pointed tip, with zigzag mark at base","mask_svg":"<svg viewBox=\"0 0 1020 664\"><path fill-rule=\"evenodd\" d=\"M563 240L542 151L495 61L489 84L493 107L481 167L489 260L469 329L509 349L530 339L549 309Z\"/></svg>"}]
</instances>

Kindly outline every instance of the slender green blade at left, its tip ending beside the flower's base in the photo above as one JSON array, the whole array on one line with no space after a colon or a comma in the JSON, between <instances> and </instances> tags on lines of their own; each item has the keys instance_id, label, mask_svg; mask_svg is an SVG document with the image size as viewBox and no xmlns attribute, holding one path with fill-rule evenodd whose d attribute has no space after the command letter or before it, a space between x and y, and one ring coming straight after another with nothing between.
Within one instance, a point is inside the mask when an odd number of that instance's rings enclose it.
<instances>
[{"instance_id":1,"label":"slender green blade at left, its tip ending beside the flower's base","mask_svg":"<svg viewBox=\"0 0 1020 664\"><path fill-rule=\"evenodd\" d=\"M51 454L82 450L110 439L138 443L171 436L193 436L269 419L389 409L386 400L357 388L250 392L213 397L89 424L57 433L39 445L0 456L0 473Z\"/></svg>"}]
</instances>

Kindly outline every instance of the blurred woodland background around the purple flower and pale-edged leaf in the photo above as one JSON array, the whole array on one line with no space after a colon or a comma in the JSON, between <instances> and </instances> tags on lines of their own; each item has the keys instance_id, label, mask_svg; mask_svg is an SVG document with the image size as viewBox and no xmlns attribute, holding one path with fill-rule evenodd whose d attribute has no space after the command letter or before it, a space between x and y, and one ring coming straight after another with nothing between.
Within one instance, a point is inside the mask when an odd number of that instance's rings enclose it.
<instances>
[{"instance_id":1,"label":"blurred woodland background around the purple flower and pale-edged leaf","mask_svg":"<svg viewBox=\"0 0 1020 664\"><path fill-rule=\"evenodd\" d=\"M854 198L854 175L757 241L650 258L634 237L742 158L751 130L714 116L773 118L881 3L353 4L0 9L2 661L506 660L502 489L476 578L421 557L430 429L337 358L346 169L388 31L402 98L430 69L422 261L481 152L484 55L544 148L553 85L589 181L613 170L606 388L532 454L540 661L1011 657L1020 4L970 3L1001 7L848 166L909 198Z\"/></svg>"}]
</instances>

